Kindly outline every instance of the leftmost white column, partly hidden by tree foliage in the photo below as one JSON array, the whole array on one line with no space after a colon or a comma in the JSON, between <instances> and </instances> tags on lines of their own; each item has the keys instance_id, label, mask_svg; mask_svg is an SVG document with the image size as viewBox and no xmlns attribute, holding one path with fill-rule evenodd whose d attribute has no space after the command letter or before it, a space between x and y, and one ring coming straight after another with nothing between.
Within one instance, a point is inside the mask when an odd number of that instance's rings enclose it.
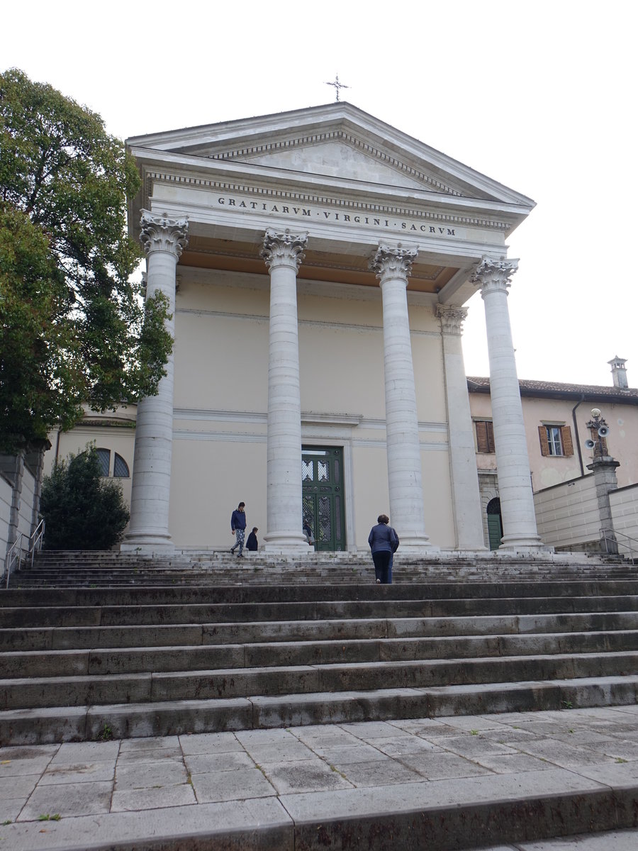
<instances>
[{"instance_id":1,"label":"leftmost white column, partly hidden by tree foliage","mask_svg":"<svg viewBox=\"0 0 638 851\"><path fill-rule=\"evenodd\" d=\"M147 254L146 298L158 291L168 298L167 328L174 336L175 267L188 243L188 220L142 210L140 239ZM135 426L131 521L122 551L157 552L174 549L168 533L168 503L173 450L174 356L157 396L140 399Z\"/></svg>"}]
</instances>

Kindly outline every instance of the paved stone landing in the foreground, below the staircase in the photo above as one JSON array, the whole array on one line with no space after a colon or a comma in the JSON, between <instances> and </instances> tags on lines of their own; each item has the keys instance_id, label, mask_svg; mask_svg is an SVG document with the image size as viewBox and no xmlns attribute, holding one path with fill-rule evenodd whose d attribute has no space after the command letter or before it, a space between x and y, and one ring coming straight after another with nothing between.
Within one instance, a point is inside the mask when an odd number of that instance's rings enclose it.
<instances>
[{"instance_id":1,"label":"paved stone landing in the foreground, below the staircase","mask_svg":"<svg viewBox=\"0 0 638 851\"><path fill-rule=\"evenodd\" d=\"M635 800L637 721L629 705L5 747L0 848L470 848L517 813L522 836L481 845L633 851L638 831L609 831ZM415 814L431 844L405 841ZM533 841L585 830L607 832Z\"/></svg>"}]
</instances>

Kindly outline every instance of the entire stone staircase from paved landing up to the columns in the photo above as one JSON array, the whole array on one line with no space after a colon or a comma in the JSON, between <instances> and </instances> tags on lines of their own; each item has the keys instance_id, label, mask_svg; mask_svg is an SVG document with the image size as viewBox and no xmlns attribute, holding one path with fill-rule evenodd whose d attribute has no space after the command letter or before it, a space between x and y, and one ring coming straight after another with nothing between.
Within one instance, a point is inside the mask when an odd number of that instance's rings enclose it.
<instances>
[{"instance_id":1,"label":"entire stone staircase from paved landing up to the columns","mask_svg":"<svg viewBox=\"0 0 638 851\"><path fill-rule=\"evenodd\" d=\"M0 743L638 699L633 568L441 557L395 569L400 581L379 586L362 557L45 555L0 592Z\"/></svg>"}]
</instances>

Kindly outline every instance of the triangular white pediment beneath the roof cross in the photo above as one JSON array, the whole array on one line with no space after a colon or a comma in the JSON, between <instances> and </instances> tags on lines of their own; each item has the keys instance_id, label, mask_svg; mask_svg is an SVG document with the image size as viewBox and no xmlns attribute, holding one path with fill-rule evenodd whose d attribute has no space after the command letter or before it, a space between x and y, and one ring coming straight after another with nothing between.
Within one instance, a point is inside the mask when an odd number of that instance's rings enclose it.
<instances>
[{"instance_id":1,"label":"triangular white pediment beneath the roof cross","mask_svg":"<svg viewBox=\"0 0 638 851\"><path fill-rule=\"evenodd\" d=\"M138 136L129 147L369 186L533 206L530 199L348 103Z\"/></svg>"}]
</instances>

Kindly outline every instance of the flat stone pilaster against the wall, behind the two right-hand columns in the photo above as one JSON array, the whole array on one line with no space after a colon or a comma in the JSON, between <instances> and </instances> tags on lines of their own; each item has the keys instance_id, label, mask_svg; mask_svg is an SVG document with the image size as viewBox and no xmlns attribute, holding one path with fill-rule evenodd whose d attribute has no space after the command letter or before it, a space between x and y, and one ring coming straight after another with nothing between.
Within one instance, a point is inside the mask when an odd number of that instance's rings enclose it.
<instances>
[{"instance_id":1,"label":"flat stone pilaster against the wall, behind the two right-hand columns","mask_svg":"<svg viewBox=\"0 0 638 851\"><path fill-rule=\"evenodd\" d=\"M462 326L467 317L467 309L437 305L436 316L441 321L443 340L443 378L447 402L456 548L485 550L474 432L461 347Z\"/></svg>"}]
</instances>

